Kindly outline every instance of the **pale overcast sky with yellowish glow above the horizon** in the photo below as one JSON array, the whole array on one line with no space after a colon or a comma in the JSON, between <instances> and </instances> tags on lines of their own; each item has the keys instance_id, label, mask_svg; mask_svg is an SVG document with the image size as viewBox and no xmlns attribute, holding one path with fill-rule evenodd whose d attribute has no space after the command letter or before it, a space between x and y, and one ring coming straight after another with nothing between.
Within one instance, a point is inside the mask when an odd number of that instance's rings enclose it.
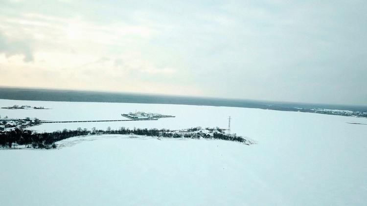
<instances>
[{"instance_id":1,"label":"pale overcast sky with yellowish glow above the horizon","mask_svg":"<svg viewBox=\"0 0 367 206\"><path fill-rule=\"evenodd\" d=\"M0 0L0 86L367 104L366 0Z\"/></svg>"}]
</instances>

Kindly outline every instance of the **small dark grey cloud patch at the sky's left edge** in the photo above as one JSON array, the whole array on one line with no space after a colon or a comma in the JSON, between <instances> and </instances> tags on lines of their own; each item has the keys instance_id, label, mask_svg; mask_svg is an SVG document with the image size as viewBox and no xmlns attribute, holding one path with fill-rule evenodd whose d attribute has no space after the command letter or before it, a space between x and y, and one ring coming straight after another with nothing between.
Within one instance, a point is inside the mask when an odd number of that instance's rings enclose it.
<instances>
[{"instance_id":1,"label":"small dark grey cloud patch at the sky's left edge","mask_svg":"<svg viewBox=\"0 0 367 206\"><path fill-rule=\"evenodd\" d=\"M33 51L30 40L11 40L0 32L0 53L4 53L7 57L13 55L23 55L24 62L32 62Z\"/></svg>"}]
</instances>

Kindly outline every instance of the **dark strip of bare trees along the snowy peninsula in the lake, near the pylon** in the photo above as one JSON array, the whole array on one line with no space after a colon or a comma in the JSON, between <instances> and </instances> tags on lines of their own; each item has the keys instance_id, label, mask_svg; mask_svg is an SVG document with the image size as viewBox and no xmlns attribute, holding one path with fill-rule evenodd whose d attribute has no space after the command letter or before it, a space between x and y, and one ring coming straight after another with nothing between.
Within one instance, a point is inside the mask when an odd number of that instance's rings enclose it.
<instances>
[{"instance_id":1,"label":"dark strip of bare trees along the snowy peninsula in the lake, near the pylon","mask_svg":"<svg viewBox=\"0 0 367 206\"><path fill-rule=\"evenodd\" d=\"M234 135L227 135L220 132L213 132L210 136L203 132L199 132L200 127L193 127L186 131L191 132L190 135L188 134L178 134L174 131L170 131L167 129L129 129L125 127L120 127L118 130L113 130L108 127L107 130L97 130L93 127L92 130L88 129L81 129L78 128L77 130L67 130L64 129L63 131L55 131L55 132L44 132L44 133L37 133L31 130L21 130L21 129L14 129L10 132L4 132L0 134L0 146L12 148L14 144L18 145L25 145L27 148L37 148L37 149L51 149L56 148L57 145L55 142L64 140L70 137L76 136L84 136L84 135L97 135L97 134L121 134L121 135L146 135L152 137L164 137L164 138L206 138L206 139L220 139L220 140L228 140L228 141L235 141L244 144L252 144L250 141ZM217 129L209 129L211 131Z\"/></svg>"}]
</instances>

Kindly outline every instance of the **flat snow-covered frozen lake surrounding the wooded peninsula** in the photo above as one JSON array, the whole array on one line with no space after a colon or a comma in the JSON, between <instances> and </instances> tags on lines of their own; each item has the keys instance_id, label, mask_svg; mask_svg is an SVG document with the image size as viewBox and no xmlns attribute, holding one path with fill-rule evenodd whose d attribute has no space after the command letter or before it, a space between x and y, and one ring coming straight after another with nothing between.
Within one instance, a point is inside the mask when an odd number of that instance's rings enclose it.
<instances>
[{"instance_id":1,"label":"flat snow-covered frozen lake surrounding the wooded peninsula","mask_svg":"<svg viewBox=\"0 0 367 206\"><path fill-rule=\"evenodd\" d=\"M1 117L117 120L135 110L176 116L31 128L39 132L227 128L231 116L232 132L257 144L115 136L59 150L0 150L1 205L367 204L365 118L237 107L0 100L0 107L14 104L52 109L0 109Z\"/></svg>"}]
</instances>

